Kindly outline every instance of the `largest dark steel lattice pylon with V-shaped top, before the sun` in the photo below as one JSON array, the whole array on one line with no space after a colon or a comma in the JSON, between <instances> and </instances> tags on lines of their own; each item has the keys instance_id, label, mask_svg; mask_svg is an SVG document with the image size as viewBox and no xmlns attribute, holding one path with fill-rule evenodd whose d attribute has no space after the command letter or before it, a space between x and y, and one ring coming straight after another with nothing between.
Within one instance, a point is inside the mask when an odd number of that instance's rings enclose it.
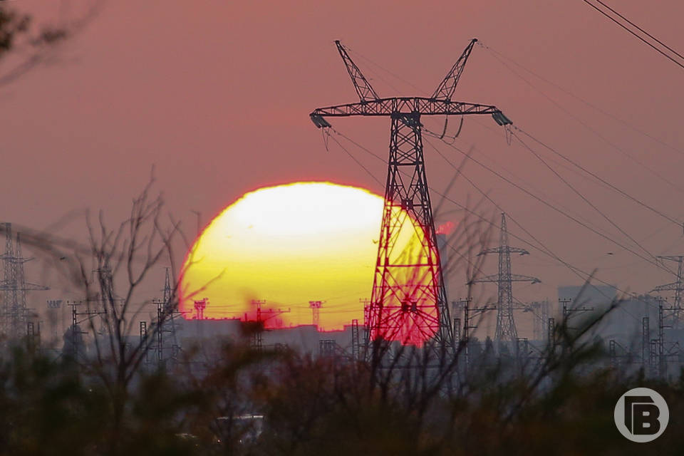
<instances>
[{"instance_id":1,"label":"largest dark steel lattice pylon with V-shaped top, before the sun","mask_svg":"<svg viewBox=\"0 0 684 456\"><path fill-rule=\"evenodd\" d=\"M452 95L477 40L472 40L430 97L380 98L346 48L336 41L358 103L318 108L310 114L318 128L326 118L352 115L390 118L390 154L385 205L369 311L369 338L420 345L435 340L452 346L453 334L437 249L423 159L423 115L492 115L499 125L512 122L492 105L463 103ZM407 219L410 217L410 219ZM411 219L413 222L411 222ZM415 229L419 252L395 252L404 222Z\"/></svg>"}]
</instances>

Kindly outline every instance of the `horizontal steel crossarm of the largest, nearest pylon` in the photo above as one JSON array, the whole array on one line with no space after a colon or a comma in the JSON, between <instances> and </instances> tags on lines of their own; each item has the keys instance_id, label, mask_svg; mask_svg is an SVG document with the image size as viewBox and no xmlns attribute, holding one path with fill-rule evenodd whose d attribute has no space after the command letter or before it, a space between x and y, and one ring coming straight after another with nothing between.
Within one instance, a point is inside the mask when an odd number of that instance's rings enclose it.
<instances>
[{"instance_id":1,"label":"horizontal steel crossarm of the largest, nearest pylon","mask_svg":"<svg viewBox=\"0 0 684 456\"><path fill-rule=\"evenodd\" d=\"M499 125L509 125L512 123L496 106L425 97L380 98L378 100L362 101L361 103L328 106L327 108L318 108L309 115L314 120L314 123L316 123L316 118L350 117L352 115L389 116L398 113L420 115L489 114L494 117L494 120Z\"/></svg>"}]
</instances>

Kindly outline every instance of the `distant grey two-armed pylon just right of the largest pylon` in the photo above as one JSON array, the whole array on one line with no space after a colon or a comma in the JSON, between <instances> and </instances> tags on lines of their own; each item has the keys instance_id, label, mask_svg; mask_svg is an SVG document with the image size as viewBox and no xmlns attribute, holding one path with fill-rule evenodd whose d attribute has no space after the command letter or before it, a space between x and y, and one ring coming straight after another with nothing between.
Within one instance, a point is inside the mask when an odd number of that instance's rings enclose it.
<instances>
[{"instance_id":1,"label":"distant grey two-armed pylon just right of the largest pylon","mask_svg":"<svg viewBox=\"0 0 684 456\"><path fill-rule=\"evenodd\" d=\"M501 235L499 236L499 247L485 249L478 254L499 254L499 274L495 276L484 276L475 279L475 282L494 282L499 286L499 297L497 299L497 332L494 334L495 341L517 342L518 331L515 327L513 318L513 282L540 282L537 277L521 276L511 272L511 254L527 255L529 252L518 247L508 245L508 229L506 227L506 214L501 213Z\"/></svg>"}]
</instances>

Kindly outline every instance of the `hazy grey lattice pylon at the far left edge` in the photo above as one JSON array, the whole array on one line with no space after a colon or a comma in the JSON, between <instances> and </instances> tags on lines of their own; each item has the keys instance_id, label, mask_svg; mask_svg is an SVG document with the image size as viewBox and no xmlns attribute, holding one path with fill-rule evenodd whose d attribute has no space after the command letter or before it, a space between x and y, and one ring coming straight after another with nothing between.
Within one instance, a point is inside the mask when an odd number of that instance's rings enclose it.
<instances>
[{"instance_id":1,"label":"hazy grey lattice pylon at the far left edge","mask_svg":"<svg viewBox=\"0 0 684 456\"><path fill-rule=\"evenodd\" d=\"M0 256L3 262L4 276L0 281L0 291L4 291L0 307L0 333L7 340L15 341L26 334L28 309L26 308L26 292L47 290L47 286L30 284L24 276L24 263L32 258L21 256L21 236L16 234L16 243L12 237L12 224L4 224L5 253Z\"/></svg>"}]
</instances>

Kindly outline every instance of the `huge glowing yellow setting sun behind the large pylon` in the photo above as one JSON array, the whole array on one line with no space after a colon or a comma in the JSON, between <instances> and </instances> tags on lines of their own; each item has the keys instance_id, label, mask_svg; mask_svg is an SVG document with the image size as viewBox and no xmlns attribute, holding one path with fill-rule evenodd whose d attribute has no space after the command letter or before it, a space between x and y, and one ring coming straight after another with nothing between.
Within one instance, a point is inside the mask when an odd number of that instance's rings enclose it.
<instances>
[{"instance_id":1,"label":"huge glowing yellow setting sun behind the large pylon","mask_svg":"<svg viewBox=\"0 0 684 456\"><path fill-rule=\"evenodd\" d=\"M255 318L263 300L266 327L312 323L309 301L324 301L319 328L342 329L373 288L383 198L331 182L297 182L243 195L204 229L187 255L180 311L197 318ZM396 252L413 244L405 217ZM272 316L269 309L289 309ZM270 315L270 316L269 316ZM272 316L272 318L271 318Z\"/></svg>"}]
</instances>

